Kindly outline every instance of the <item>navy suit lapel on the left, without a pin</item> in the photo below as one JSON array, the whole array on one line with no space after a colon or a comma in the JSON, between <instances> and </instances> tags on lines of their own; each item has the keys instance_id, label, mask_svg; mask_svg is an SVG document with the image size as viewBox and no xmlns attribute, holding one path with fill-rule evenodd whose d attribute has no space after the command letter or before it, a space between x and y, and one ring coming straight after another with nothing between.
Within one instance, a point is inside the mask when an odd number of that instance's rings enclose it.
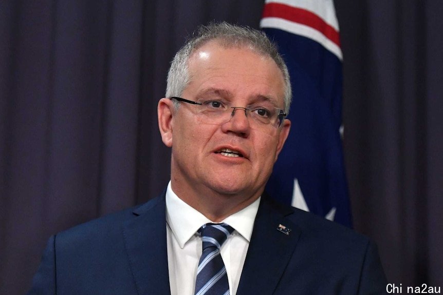
<instances>
[{"instance_id":1,"label":"navy suit lapel on the left, without a pin","mask_svg":"<svg viewBox=\"0 0 443 295\"><path fill-rule=\"evenodd\" d=\"M134 211L123 227L130 267L139 295L170 294L164 193Z\"/></svg>"}]
</instances>

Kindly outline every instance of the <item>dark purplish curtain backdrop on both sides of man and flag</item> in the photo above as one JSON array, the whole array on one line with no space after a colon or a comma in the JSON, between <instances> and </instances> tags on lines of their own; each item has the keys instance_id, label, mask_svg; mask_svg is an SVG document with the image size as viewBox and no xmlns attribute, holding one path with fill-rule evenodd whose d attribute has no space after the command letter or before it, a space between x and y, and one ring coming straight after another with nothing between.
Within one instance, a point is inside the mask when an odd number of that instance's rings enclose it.
<instances>
[{"instance_id":1,"label":"dark purplish curtain backdrop on both sides of man and flag","mask_svg":"<svg viewBox=\"0 0 443 295\"><path fill-rule=\"evenodd\" d=\"M259 27L263 2L0 1L0 293L48 237L156 196L156 106L199 24ZM443 4L336 2L354 225L392 283L443 285Z\"/></svg>"}]
</instances>

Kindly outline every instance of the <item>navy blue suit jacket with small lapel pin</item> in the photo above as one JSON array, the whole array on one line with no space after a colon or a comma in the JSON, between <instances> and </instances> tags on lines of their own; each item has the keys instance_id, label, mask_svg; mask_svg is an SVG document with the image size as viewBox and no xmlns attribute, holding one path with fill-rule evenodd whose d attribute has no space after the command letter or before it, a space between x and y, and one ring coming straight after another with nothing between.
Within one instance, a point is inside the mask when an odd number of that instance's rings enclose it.
<instances>
[{"instance_id":1,"label":"navy blue suit jacket with small lapel pin","mask_svg":"<svg viewBox=\"0 0 443 295\"><path fill-rule=\"evenodd\" d=\"M29 294L170 294L165 220L163 193L51 237ZM370 240L262 198L237 294L385 294L385 288Z\"/></svg>"}]
</instances>

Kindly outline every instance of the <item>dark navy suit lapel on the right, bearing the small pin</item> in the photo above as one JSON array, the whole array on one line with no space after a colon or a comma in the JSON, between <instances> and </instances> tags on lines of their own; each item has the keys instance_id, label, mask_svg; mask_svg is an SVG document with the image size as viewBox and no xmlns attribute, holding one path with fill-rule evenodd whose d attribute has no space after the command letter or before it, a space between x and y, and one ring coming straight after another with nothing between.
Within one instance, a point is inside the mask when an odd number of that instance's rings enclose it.
<instances>
[{"instance_id":1,"label":"dark navy suit lapel on the right, bearing the small pin","mask_svg":"<svg viewBox=\"0 0 443 295\"><path fill-rule=\"evenodd\" d=\"M300 229L285 218L292 209L274 208L265 196L255 218L237 294L272 294L296 248ZM291 229L289 235L279 225Z\"/></svg>"}]
</instances>

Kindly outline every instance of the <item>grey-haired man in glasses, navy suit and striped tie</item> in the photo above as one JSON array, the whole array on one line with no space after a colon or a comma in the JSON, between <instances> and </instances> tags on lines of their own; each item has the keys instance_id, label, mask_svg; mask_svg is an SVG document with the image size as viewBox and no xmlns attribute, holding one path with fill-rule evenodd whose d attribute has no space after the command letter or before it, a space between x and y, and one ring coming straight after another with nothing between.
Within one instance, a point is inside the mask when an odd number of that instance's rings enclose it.
<instances>
[{"instance_id":1,"label":"grey-haired man in glasses, navy suit and striped tie","mask_svg":"<svg viewBox=\"0 0 443 295\"><path fill-rule=\"evenodd\" d=\"M288 136L289 75L259 31L202 27L158 103L158 198L59 233L31 294L380 294L368 239L264 193Z\"/></svg>"}]
</instances>

